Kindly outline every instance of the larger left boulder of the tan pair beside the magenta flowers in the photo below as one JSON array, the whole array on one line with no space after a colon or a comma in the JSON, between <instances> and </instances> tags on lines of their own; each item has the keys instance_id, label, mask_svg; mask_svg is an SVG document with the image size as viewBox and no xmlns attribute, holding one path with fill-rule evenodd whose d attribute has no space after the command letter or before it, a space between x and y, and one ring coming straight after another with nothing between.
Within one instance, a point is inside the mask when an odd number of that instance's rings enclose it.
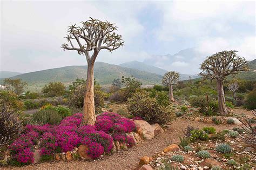
<instances>
[{"instance_id":1,"label":"larger left boulder of the tan pair beside the magenta flowers","mask_svg":"<svg viewBox=\"0 0 256 170\"><path fill-rule=\"evenodd\" d=\"M146 140L154 138L154 128L145 120L134 120L138 133L143 135Z\"/></svg>"}]
</instances>

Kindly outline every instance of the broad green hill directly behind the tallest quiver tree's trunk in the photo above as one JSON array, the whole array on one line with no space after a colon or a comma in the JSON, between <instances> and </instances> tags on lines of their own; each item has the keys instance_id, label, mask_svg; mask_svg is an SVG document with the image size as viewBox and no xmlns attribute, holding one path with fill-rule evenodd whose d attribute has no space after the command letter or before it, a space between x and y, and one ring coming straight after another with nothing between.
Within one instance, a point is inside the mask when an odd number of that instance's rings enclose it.
<instances>
[{"instance_id":1,"label":"broad green hill directly behind the tallest quiver tree's trunk","mask_svg":"<svg viewBox=\"0 0 256 170\"><path fill-rule=\"evenodd\" d=\"M122 78L122 76L134 78L142 81L144 85L160 84L163 76L159 74L139 71L118 65L96 62L95 79L100 85L111 85L113 79ZM72 83L76 78L86 79L87 66L66 66L56 69L48 69L30 73L20 74L11 77L12 79L21 78L28 83L29 90L40 90L42 87L51 81L61 81L66 86Z\"/></svg>"}]
</instances>

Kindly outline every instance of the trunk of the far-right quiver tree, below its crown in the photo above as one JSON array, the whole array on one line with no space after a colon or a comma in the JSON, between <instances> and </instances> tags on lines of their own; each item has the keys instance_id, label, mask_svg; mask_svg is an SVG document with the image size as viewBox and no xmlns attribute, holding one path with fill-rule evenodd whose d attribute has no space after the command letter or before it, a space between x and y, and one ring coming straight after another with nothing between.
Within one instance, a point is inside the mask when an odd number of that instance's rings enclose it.
<instances>
[{"instance_id":1,"label":"trunk of the far-right quiver tree, below its crown","mask_svg":"<svg viewBox=\"0 0 256 170\"><path fill-rule=\"evenodd\" d=\"M218 91L218 103L219 103L219 113L227 114L227 106L223 90L223 81L217 80L217 91Z\"/></svg>"}]
</instances>

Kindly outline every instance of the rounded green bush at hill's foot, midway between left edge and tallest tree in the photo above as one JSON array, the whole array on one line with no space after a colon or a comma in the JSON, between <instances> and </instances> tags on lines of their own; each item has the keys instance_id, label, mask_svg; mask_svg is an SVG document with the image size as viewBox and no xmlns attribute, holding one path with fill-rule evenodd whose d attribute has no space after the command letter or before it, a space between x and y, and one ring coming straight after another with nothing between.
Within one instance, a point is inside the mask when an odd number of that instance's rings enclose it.
<instances>
[{"instance_id":1,"label":"rounded green bush at hill's foot, midway between left edge and tallest tree","mask_svg":"<svg viewBox=\"0 0 256 170\"><path fill-rule=\"evenodd\" d=\"M50 82L49 84L46 84L42 92L47 97L55 97L55 96L62 96L65 94L66 87L61 82Z\"/></svg>"}]
</instances>

